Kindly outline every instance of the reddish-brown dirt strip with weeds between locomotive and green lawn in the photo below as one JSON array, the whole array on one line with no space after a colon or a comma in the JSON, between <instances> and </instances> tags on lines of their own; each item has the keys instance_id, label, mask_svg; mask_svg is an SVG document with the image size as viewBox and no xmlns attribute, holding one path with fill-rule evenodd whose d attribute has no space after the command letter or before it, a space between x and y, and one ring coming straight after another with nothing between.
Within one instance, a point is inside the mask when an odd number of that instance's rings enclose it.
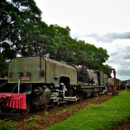
<instances>
[{"instance_id":1,"label":"reddish-brown dirt strip with weeds between locomotive and green lawn","mask_svg":"<svg viewBox=\"0 0 130 130\"><path fill-rule=\"evenodd\" d=\"M43 129L50 127L56 123L66 120L77 111L85 108L89 104L100 104L108 99L111 95L100 95L94 98L88 98L82 102L64 104L54 108L50 108L48 111L39 111L31 113L27 116L18 118L13 123L17 124L18 130L30 130L30 129Z\"/></svg>"}]
</instances>

